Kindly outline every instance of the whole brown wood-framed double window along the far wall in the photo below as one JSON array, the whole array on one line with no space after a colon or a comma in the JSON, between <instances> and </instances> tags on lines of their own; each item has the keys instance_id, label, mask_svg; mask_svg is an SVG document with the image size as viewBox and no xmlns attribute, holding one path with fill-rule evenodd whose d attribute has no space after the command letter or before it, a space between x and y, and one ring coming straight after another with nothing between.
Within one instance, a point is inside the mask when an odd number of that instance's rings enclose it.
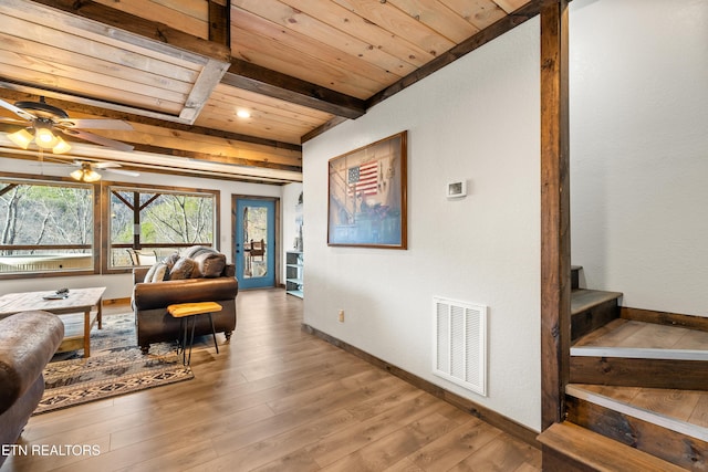
<instances>
[{"instance_id":1,"label":"whole brown wood-framed double window along the far wall","mask_svg":"<svg viewBox=\"0 0 708 472\"><path fill-rule=\"evenodd\" d=\"M0 176L0 280L152 265L216 248L219 191Z\"/></svg>"}]
</instances>

